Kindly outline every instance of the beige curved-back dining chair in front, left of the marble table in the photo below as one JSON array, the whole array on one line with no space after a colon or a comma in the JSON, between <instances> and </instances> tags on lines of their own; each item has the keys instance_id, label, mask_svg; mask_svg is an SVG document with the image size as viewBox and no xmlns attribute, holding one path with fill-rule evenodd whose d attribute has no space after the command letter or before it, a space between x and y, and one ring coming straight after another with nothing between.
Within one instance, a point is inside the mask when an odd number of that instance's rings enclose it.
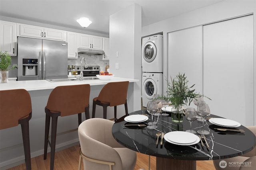
<instances>
[{"instance_id":1,"label":"beige curved-back dining chair in front, left of the marble table","mask_svg":"<svg viewBox=\"0 0 256 170\"><path fill-rule=\"evenodd\" d=\"M79 167L84 170L134 170L136 152L120 145L112 136L114 121L92 118L78 127L80 141Z\"/></svg>"}]
</instances>

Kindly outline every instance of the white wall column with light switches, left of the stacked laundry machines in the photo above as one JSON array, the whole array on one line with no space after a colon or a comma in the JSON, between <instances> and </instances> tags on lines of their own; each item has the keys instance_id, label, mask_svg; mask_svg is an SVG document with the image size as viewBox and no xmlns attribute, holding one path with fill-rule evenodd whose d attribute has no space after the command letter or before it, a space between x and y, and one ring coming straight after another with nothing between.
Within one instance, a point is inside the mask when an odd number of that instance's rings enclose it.
<instances>
[{"instance_id":1,"label":"white wall column with light switches, left of the stacked laundry machines","mask_svg":"<svg viewBox=\"0 0 256 170\"><path fill-rule=\"evenodd\" d=\"M136 111L141 108L141 6L133 4L116 12L110 16L109 25L110 72L116 77L140 80L134 83L134 110L128 112Z\"/></svg>"}]
</instances>

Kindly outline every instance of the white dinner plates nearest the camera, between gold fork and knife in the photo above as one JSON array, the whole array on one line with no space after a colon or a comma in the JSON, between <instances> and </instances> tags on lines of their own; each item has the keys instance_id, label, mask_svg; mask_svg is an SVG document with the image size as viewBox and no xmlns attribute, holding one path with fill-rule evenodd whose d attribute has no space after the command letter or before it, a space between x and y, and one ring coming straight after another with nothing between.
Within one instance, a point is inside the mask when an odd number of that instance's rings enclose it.
<instances>
[{"instance_id":1,"label":"white dinner plates nearest the camera, between gold fork and knife","mask_svg":"<svg viewBox=\"0 0 256 170\"><path fill-rule=\"evenodd\" d=\"M198 136L185 131L168 132L164 135L164 139L175 145L194 145L200 141Z\"/></svg>"}]
</instances>

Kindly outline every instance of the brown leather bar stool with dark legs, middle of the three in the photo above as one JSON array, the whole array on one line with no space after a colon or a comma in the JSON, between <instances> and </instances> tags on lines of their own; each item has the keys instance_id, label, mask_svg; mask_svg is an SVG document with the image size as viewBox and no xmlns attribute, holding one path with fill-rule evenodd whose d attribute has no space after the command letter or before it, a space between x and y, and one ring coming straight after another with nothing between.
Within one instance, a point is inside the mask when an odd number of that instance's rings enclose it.
<instances>
[{"instance_id":1,"label":"brown leather bar stool with dark legs, middle of the three","mask_svg":"<svg viewBox=\"0 0 256 170\"><path fill-rule=\"evenodd\" d=\"M56 145L58 116L78 114L78 125L82 123L82 112L85 112L86 119L89 115L90 85L81 84L73 86L58 86L54 88L48 98L45 107L45 136L44 136L44 159L47 155L48 143L51 148L50 169L54 168L54 155ZM72 102L71 100L76 102ZM50 118L52 118L51 142L49 141Z\"/></svg>"}]
</instances>

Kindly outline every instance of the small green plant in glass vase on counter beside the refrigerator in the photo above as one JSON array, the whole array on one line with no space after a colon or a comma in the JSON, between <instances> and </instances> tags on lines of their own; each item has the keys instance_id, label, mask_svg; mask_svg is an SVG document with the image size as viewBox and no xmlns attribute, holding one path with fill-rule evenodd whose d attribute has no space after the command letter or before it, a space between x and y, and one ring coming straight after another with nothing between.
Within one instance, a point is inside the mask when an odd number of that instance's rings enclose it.
<instances>
[{"instance_id":1,"label":"small green plant in glass vase on counter beside the refrigerator","mask_svg":"<svg viewBox=\"0 0 256 170\"><path fill-rule=\"evenodd\" d=\"M14 64L11 68L12 58L7 52L0 51L0 76L1 83L8 82L8 72L14 68L18 68L17 64Z\"/></svg>"}]
</instances>

